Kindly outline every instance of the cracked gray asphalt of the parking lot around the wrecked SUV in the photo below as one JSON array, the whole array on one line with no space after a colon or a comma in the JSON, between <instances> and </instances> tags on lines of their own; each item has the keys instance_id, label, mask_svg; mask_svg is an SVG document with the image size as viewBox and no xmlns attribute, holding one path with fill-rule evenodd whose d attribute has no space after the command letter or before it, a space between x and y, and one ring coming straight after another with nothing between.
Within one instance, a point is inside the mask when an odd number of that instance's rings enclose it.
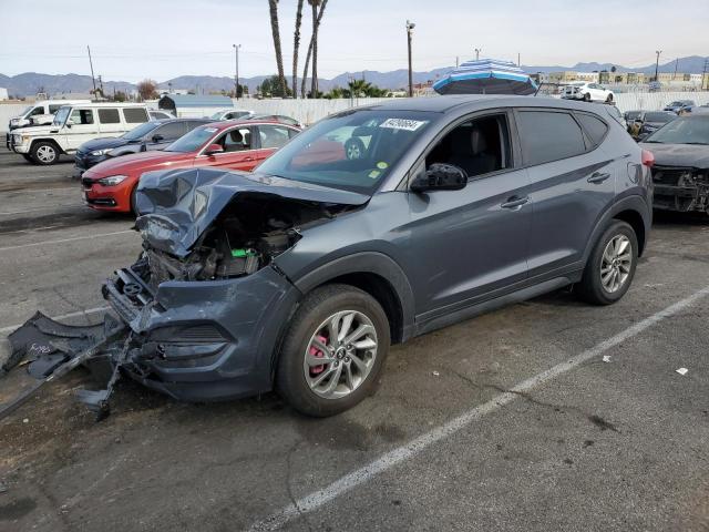
<instances>
[{"instance_id":1,"label":"cracked gray asphalt of the parking lot around the wrecked SUV","mask_svg":"<svg viewBox=\"0 0 709 532\"><path fill-rule=\"evenodd\" d=\"M2 337L37 309L96 320L101 280L140 252L71 171L0 151ZM620 303L562 290L414 339L377 395L325 420L275 395L186 405L121 381L95 423L76 370L0 421L0 531L709 531L709 296L597 349L707 288L708 263L709 217L661 216ZM29 382L4 377L0 402ZM342 480L381 457L397 461Z\"/></svg>"}]
</instances>

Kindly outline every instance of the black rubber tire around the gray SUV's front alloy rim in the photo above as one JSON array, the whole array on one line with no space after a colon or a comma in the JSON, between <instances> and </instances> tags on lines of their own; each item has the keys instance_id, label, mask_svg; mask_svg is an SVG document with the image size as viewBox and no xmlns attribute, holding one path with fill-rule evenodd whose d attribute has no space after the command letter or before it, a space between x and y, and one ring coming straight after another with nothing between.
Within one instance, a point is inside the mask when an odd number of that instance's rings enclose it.
<instances>
[{"instance_id":1,"label":"black rubber tire around the gray SUV's front alloy rim","mask_svg":"<svg viewBox=\"0 0 709 532\"><path fill-rule=\"evenodd\" d=\"M345 397L325 398L317 395L306 380L306 351L320 325L343 310L361 313L371 321L377 335L377 352L369 374L353 390ZM278 358L276 390L294 409L306 416L323 418L343 412L376 391L390 341L387 314L369 294L339 284L316 288L306 296L288 326Z\"/></svg>"}]
</instances>

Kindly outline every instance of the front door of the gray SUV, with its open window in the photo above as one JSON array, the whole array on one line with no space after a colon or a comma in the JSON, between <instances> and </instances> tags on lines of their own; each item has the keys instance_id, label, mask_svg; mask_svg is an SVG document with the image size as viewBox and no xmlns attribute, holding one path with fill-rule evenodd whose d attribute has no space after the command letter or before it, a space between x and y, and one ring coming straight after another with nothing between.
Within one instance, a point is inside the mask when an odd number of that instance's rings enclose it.
<instances>
[{"instance_id":1,"label":"front door of the gray SUV, with its open window","mask_svg":"<svg viewBox=\"0 0 709 532\"><path fill-rule=\"evenodd\" d=\"M423 321L526 279L530 177L515 164L510 122L507 112L467 119L442 135L414 167L417 175L432 163L448 163L469 175L460 191L409 192L407 247ZM484 141L473 141L480 132Z\"/></svg>"}]
</instances>

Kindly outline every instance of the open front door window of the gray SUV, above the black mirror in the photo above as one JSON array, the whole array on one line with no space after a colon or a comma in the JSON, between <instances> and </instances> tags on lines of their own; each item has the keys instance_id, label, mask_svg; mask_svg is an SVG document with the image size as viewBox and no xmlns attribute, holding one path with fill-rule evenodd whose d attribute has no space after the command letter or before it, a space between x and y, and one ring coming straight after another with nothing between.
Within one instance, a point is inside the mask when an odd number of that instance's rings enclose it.
<instances>
[{"instance_id":1,"label":"open front door window of the gray SUV, above the black mirror","mask_svg":"<svg viewBox=\"0 0 709 532\"><path fill-rule=\"evenodd\" d=\"M469 177L512 166L507 119L504 114L464 122L448 133L425 157L425 166L448 163Z\"/></svg>"}]
</instances>

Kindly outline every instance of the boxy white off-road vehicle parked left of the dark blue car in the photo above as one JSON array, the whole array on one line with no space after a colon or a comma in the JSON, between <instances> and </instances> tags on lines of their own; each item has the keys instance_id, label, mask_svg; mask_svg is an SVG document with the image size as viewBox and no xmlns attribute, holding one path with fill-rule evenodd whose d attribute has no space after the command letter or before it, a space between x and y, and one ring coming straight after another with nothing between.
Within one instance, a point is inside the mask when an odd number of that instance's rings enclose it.
<instances>
[{"instance_id":1,"label":"boxy white off-road vehicle parked left of the dark blue car","mask_svg":"<svg viewBox=\"0 0 709 532\"><path fill-rule=\"evenodd\" d=\"M64 105L50 125L14 130L10 150L34 164L54 164L61 154L71 154L86 141L121 136L150 121L140 103L82 103Z\"/></svg>"}]
</instances>

